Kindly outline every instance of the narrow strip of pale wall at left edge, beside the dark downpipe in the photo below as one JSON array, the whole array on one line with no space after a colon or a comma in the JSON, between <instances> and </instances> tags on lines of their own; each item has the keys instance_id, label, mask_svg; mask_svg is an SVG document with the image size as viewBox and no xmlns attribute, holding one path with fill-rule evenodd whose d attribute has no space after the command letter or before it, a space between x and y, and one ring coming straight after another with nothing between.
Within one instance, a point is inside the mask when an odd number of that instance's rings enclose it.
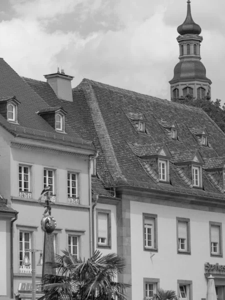
<instances>
[{"instance_id":1,"label":"narrow strip of pale wall at left edge, beside the dark downpipe","mask_svg":"<svg viewBox=\"0 0 225 300\"><path fill-rule=\"evenodd\" d=\"M7 294L7 259L6 259L6 249L9 245L6 244L6 220L0 219L0 296L6 296ZM7 247L8 246L8 247Z\"/></svg>"}]
</instances>

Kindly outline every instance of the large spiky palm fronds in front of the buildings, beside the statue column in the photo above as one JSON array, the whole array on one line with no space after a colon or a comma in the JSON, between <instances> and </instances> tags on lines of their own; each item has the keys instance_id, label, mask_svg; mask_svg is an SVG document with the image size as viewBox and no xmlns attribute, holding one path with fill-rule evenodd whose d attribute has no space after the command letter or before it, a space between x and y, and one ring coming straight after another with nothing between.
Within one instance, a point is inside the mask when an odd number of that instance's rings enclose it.
<instances>
[{"instance_id":1,"label":"large spiky palm fronds in front of the buildings, beside the statue column","mask_svg":"<svg viewBox=\"0 0 225 300\"><path fill-rule=\"evenodd\" d=\"M87 260L76 259L67 250L55 255L57 275L44 275L44 296L39 300L124 300L128 284L114 281L125 267L125 260L116 253L103 255L96 250Z\"/></svg>"}]
</instances>

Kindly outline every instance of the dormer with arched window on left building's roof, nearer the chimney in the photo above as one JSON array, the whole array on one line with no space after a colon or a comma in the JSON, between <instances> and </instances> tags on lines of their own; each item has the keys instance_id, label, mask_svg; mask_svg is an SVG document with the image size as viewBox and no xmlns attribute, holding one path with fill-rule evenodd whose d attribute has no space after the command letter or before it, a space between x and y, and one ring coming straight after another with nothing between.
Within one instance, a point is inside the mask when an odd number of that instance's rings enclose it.
<instances>
[{"instance_id":1,"label":"dormer with arched window on left building's roof, nearer the chimney","mask_svg":"<svg viewBox=\"0 0 225 300\"><path fill-rule=\"evenodd\" d=\"M40 109L37 113L58 132L65 132L65 115L67 112L62 106Z\"/></svg>"}]
</instances>

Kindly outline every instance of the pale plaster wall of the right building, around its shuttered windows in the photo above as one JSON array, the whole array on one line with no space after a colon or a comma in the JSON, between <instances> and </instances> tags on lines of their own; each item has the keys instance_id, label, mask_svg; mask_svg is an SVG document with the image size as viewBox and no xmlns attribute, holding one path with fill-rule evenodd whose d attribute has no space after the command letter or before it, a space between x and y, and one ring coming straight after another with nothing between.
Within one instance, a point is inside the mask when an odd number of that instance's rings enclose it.
<instances>
[{"instance_id":1,"label":"pale plaster wall of the right building, around its shuttered windows","mask_svg":"<svg viewBox=\"0 0 225 300\"><path fill-rule=\"evenodd\" d=\"M143 250L142 213L157 214L158 252L150 258ZM191 255L177 254L176 217L190 219ZM132 298L143 298L143 277L159 278L160 287L177 292L177 279L192 280L193 299L206 297L204 263L225 264L222 257L210 257L209 221L222 222L223 213L142 202L130 202ZM223 253L225 239L223 238Z\"/></svg>"}]
</instances>

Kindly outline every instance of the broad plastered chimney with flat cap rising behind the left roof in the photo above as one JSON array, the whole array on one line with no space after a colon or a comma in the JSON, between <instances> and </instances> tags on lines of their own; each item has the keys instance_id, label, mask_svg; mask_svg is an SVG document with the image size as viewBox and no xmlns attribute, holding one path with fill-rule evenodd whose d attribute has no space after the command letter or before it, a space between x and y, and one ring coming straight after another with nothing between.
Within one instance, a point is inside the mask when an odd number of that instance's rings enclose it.
<instances>
[{"instance_id":1,"label":"broad plastered chimney with flat cap rising behind the left roof","mask_svg":"<svg viewBox=\"0 0 225 300\"><path fill-rule=\"evenodd\" d=\"M57 73L44 75L44 78L47 79L47 83L59 99L72 102L71 80L73 76L66 75L63 69L59 72L57 68Z\"/></svg>"}]
</instances>

